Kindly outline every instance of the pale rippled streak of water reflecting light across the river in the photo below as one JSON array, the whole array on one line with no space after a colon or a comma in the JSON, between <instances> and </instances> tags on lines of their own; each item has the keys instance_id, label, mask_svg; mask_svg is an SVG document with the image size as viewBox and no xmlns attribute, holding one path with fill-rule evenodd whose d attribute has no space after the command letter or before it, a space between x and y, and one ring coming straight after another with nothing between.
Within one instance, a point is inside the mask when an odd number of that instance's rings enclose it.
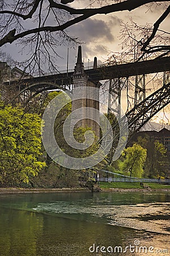
<instances>
[{"instance_id":1,"label":"pale rippled streak of water reflecting light across the river","mask_svg":"<svg viewBox=\"0 0 170 256\"><path fill-rule=\"evenodd\" d=\"M86 221L107 222L111 225L170 234L169 207L170 203L108 205L100 201L100 204L93 205L86 200L79 200L39 204L33 210L79 220L83 216Z\"/></svg>"}]
</instances>

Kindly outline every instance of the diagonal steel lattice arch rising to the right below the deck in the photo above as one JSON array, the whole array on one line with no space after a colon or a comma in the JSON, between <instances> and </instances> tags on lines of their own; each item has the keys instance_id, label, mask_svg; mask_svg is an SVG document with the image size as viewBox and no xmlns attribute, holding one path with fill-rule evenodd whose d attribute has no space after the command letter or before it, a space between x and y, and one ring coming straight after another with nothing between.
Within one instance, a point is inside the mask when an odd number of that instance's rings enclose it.
<instances>
[{"instance_id":1,"label":"diagonal steel lattice arch rising to the right below the deck","mask_svg":"<svg viewBox=\"0 0 170 256\"><path fill-rule=\"evenodd\" d=\"M112 126L114 137L112 141L112 151L109 155L108 162L112 163L113 153L117 150L117 144L119 140L122 140L122 145L124 145L124 138L120 138L120 132L118 131L118 126L121 126L122 130L125 130L126 133L126 118L128 119L128 130L129 135L128 139L133 135L134 132L139 131L156 113L161 109L167 106L170 103L170 82L166 85L163 85L162 88L156 90L145 100L141 101L133 109L131 109L126 116L122 117L118 123L114 123ZM122 131L124 133L124 131ZM120 147L118 150L123 150L124 148Z\"/></svg>"}]
</instances>

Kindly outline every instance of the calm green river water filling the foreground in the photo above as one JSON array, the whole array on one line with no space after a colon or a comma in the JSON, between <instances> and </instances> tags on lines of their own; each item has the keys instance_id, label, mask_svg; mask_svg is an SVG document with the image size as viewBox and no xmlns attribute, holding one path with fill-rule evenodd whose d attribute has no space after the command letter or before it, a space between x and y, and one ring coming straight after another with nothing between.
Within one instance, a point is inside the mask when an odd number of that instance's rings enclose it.
<instances>
[{"instance_id":1,"label":"calm green river water filling the foreground","mask_svg":"<svg viewBox=\"0 0 170 256\"><path fill-rule=\"evenodd\" d=\"M168 192L2 194L0 255L170 255L169 202Z\"/></svg>"}]
</instances>

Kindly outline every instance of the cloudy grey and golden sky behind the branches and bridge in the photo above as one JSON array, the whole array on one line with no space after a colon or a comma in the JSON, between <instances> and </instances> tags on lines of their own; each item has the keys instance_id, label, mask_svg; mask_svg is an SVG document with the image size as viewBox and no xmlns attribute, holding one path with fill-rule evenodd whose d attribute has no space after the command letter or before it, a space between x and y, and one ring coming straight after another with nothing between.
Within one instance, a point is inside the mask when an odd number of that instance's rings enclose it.
<instances>
[{"instance_id":1,"label":"cloudy grey and golden sky behind the branches and bridge","mask_svg":"<svg viewBox=\"0 0 170 256\"><path fill-rule=\"evenodd\" d=\"M91 1L76 0L70 4L72 7L86 7ZM110 1L111 2L111 1ZM67 34L70 36L78 36L82 40L82 51L84 66L92 65L94 57L97 57L98 63L104 63L111 52L120 52L122 49L121 28L123 23L129 23L130 19L138 25L144 26L146 23L154 24L154 22L162 15L164 4L159 7L143 6L133 11L123 11L108 15L95 15L94 17L84 20L78 24L67 29ZM164 20L160 29L169 31L170 17ZM29 26L29 25L28 25ZM77 48L71 48L70 45L58 47L58 53L63 59L58 58L58 69L65 70L67 63L67 48L69 47L69 69L73 69L76 62ZM2 48L3 51L10 53L10 55L17 61L25 59L26 52L20 53L19 46L15 43L7 44ZM151 88L151 85L148 85ZM125 102L125 98L124 98ZM126 108L126 104L123 104ZM170 119L169 110L166 111L168 119ZM154 122L168 123L167 117L164 117L163 112L159 113L158 118Z\"/></svg>"}]
</instances>

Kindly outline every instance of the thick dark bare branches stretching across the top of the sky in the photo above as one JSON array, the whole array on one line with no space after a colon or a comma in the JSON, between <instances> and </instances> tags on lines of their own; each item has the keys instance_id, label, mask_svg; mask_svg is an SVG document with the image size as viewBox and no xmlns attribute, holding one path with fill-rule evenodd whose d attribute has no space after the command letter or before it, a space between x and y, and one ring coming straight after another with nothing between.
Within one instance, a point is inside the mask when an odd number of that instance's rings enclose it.
<instances>
[{"instance_id":1,"label":"thick dark bare branches stretching across the top of the sky","mask_svg":"<svg viewBox=\"0 0 170 256\"><path fill-rule=\"evenodd\" d=\"M95 8L95 9L73 9L73 8L65 6L65 5L60 5L56 2L54 2L53 0L49 0L50 7L68 11L70 14L82 14L82 15L65 22L65 23L61 24L60 26L43 26L43 27L33 28L31 30L21 32L17 35L14 34L14 30L11 30L10 32L8 32L9 35L8 34L5 35L0 40L0 47L6 43L12 43L19 38L23 38L24 36L35 34L37 32L63 31L66 28L73 26L73 24L79 23L82 20L90 18L91 16L94 16L96 14L109 14L109 13L114 13L117 11L124 11L124 10L131 11L131 10L138 8L139 6L145 5L146 3L152 3L152 2L155 2L155 1L153 1L153 0L138 0L138 1L127 0L124 2L114 3L113 5L107 5L107 6ZM165 2L165 0L159 0L156 2ZM23 17L21 16L21 14L16 13L16 12L12 13L11 11L1 11L0 14L2 14L2 13L4 14L6 12L8 14L10 13L15 16L19 16L20 18L23 18L23 19L31 18L32 14L36 11L37 7L39 6L39 3L40 3L40 0L36 0L35 5L33 6L33 9L29 12L29 14L23 15ZM163 14L163 17L165 15L167 15L167 13L168 13L168 11Z\"/></svg>"}]
</instances>

